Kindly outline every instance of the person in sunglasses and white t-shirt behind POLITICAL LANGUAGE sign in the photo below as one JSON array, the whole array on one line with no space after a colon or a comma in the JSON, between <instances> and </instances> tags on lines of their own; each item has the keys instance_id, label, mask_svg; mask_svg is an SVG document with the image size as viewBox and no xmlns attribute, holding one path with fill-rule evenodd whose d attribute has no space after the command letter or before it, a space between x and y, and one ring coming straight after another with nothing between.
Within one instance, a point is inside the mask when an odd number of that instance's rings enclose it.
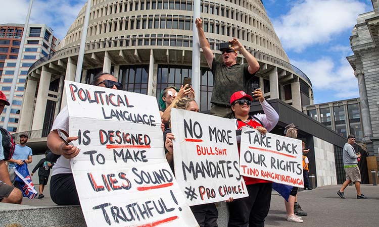
<instances>
[{"instance_id":1,"label":"person in sunglasses and white t-shirt behind POLITICAL LANGUAGE sign","mask_svg":"<svg viewBox=\"0 0 379 227\"><path fill-rule=\"evenodd\" d=\"M121 89L122 86L117 79L109 73L101 73L93 78L92 85ZM67 145L78 137L68 137L66 143L61 140L58 129L68 136L69 114L67 106L64 107L54 121L52 131L48 136L48 147L57 155L61 155L53 168L50 183L50 194L53 202L58 205L79 205L79 197L75 188L74 177L71 172L70 158L78 155L80 149L73 145Z\"/></svg>"}]
</instances>

